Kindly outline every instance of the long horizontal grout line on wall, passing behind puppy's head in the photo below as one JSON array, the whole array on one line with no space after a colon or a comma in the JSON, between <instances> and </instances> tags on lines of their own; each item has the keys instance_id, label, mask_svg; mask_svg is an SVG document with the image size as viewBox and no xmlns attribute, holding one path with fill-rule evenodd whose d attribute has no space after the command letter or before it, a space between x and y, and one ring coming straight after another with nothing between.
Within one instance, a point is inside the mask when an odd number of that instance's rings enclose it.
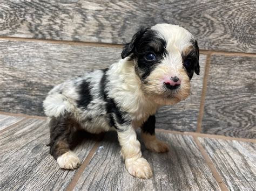
<instances>
[{"instance_id":1,"label":"long horizontal grout line on wall, passing behind puppy's head","mask_svg":"<svg viewBox=\"0 0 256 191\"><path fill-rule=\"evenodd\" d=\"M33 38L22 38L22 37L0 37L0 40L41 42L41 43L64 44L64 45L65 44L66 45L84 45L84 46L109 47L109 48L123 48L122 44L72 41L72 40L69 41L69 40L33 39ZM256 56L256 53L226 52L226 51L214 51L214 50L200 49L201 54L208 54L209 52L212 52L212 54L226 55L226 56L252 56L252 57Z\"/></svg>"}]
</instances>

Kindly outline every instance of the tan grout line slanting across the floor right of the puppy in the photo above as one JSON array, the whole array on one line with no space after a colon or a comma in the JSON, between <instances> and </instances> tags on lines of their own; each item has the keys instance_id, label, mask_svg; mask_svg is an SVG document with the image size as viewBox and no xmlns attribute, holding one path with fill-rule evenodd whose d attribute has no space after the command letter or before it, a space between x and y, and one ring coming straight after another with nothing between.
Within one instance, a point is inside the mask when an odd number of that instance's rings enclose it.
<instances>
[{"instance_id":1,"label":"tan grout line slanting across the floor right of the puppy","mask_svg":"<svg viewBox=\"0 0 256 191\"><path fill-rule=\"evenodd\" d=\"M197 136L193 136L194 142L196 142L199 151L201 152L201 154L203 155L206 164L208 165L208 167L210 168L212 175L214 177L214 179L217 181L219 187L221 190L227 191L227 186L225 184L225 182L223 181L223 178L221 177L221 175L218 173L217 168L215 167L215 165L213 164L212 160L210 159L210 157L208 156L207 152L205 151L203 145L201 145L201 143L199 142Z\"/></svg>"}]
</instances>

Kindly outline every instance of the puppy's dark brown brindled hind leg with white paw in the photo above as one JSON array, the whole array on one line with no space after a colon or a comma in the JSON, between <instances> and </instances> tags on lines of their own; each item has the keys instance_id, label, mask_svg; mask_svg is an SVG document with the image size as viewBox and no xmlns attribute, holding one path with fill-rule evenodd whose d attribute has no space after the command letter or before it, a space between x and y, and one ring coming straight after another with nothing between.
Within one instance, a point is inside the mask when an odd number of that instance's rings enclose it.
<instances>
[{"instance_id":1,"label":"puppy's dark brown brindled hind leg with white paw","mask_svg":"<svg viewBox=\"0 0 256 191\"><path fill-rule=\"evenodd\" d=\"M50 119L50 153L60 168L75 169L80 166L77 155L70 150L72 137L76 132L75 123L67 114Z\"/></svg>"}]
</instances>

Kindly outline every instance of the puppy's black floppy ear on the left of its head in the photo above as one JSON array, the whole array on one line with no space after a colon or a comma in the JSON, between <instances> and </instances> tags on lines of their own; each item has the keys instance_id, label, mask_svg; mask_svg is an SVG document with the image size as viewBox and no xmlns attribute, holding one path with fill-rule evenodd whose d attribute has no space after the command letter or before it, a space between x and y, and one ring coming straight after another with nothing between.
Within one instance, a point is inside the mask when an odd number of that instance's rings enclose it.
<instances>
[{"instance_id":1,"label":"puppy's black floppy ear on the left of its head","mask_svg":"<svg viewBox=\"0 0 256 191\"><path fill-rule=\"evenodd\" d=\"M121 53L122 59L126 58L127 56L130 56L131 60L134 58L133 53L136 51L136 45L138 45L140 38L142 38L143 34L148 30L149 28L143 28L141 27L140 30L135 33L132 37L132 40L130 43L126 43L123 47L123 51Z\"/></svg>"}]
</instances>

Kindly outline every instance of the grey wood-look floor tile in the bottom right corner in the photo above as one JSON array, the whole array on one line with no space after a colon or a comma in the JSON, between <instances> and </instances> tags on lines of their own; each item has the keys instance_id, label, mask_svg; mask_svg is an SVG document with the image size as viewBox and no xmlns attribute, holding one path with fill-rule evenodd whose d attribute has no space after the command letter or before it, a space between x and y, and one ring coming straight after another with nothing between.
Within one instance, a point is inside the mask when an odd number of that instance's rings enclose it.
<instances>
[{"instance_id":1,"label":"grey wood-look floor tile in the bottom right corner","mask_svg":"<svg viewBox=\"0 0 256 191\"><path fill-rule=\"evenodd\" d=\"M228 190L255 190L256 144L198 138L205 147Z\"/></svg>"}]
</instances>

